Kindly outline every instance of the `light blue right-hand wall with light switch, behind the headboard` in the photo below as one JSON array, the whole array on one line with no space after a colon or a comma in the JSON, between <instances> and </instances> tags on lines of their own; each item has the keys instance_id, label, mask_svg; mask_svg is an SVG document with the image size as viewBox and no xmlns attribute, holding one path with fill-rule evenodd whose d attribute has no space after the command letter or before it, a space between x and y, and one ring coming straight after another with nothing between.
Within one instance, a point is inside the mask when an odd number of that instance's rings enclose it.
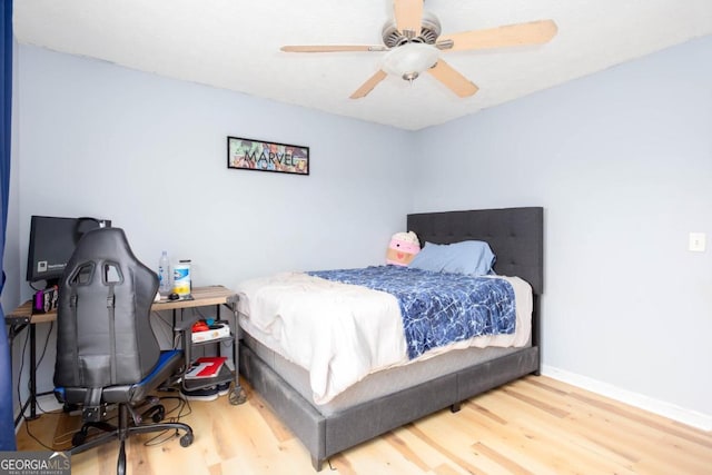
<instances>
[{"instance_id":1,"label":"light blue right-hand wall with light switch, behind the headboard","mask_svg":"<svg viewBox=\"0 0 712 475\"><path fill-rule=\"evenodd\" d=\"M712 38L417 142L415 210L545 207L545 365L712 416Z\"/></svg>"}]
</instances>

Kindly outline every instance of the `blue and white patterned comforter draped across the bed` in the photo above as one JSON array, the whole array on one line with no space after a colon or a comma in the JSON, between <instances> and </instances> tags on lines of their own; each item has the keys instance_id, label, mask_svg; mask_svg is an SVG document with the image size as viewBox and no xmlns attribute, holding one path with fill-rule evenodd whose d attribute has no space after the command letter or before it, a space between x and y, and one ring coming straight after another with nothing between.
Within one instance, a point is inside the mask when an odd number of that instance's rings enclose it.
<instances>
[{"instance_id":1,"label":"blue and white patterned comforter draped across the bed","mask_svg":"<svg viewBox=\"0 0 712 475\"><path fill-rule=\"evenodd\" d=\"M515 329L514 289L505 279L402 266L307 274L395 296L411 359L449 343L482 335L512 334Z\"/></svg>"}]
</instances>

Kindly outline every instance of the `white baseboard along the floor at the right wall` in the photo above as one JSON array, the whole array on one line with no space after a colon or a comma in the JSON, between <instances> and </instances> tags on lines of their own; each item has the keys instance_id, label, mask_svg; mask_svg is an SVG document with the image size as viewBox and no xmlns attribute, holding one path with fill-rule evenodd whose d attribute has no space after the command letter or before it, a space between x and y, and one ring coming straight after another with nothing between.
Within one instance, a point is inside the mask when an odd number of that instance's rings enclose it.
<instances>
[{"instance_id":1,"label":"white baseboard along the floor at the right wall","mask_svg":"<svg viewBox=\"0 0 712 475\"><path fill-rule=\"evenodd\" d=\"M586 376L581 376L548 365L542 365L542 374L592 393L620 400L621 403L650 410L651 413L678 420L689 426L708 432L712 431L712 415L710 414L702 414L663 400L653 399L652 397L622 389L609 383L603 383L597 379L592 379Z\"/></svg>"}]
</instances>

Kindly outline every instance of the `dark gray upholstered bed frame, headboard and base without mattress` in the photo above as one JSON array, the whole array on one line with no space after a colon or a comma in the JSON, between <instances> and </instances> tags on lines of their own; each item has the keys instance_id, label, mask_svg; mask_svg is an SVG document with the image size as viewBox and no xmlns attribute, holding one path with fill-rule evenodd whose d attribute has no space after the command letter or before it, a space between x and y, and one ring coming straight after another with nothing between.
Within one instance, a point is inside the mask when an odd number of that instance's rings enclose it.
<instances>
[{"instance_id":1,"label":"dark gray upholstered bed frame, headboard and base without mattress","mask_svg":"<svg viewBox=\"0 0 712 475\"><path fill-rule=\"evenodd\" d=\"M247 345L240 345L241 375L301 441L317 472L332 455L443 408L457 410L465 399L540 372L543 208L408 215L407 229L418 235L421 245L466 239L490 243L497 256L495 271L520 276L532 285L532 346L324 416Z\"/></svg>"}]
</instances>

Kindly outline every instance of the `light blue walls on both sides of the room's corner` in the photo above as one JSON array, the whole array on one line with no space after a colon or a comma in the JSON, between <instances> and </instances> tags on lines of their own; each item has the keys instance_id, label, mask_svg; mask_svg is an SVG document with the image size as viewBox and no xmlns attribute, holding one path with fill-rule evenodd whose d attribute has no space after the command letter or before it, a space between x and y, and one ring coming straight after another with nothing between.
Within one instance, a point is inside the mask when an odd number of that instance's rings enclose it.
<instances>
[{"instance_id":1,"label":"light blue walls on both sides of the room's corner","mask_svg":"<svg viewBox=\"0 0 712 475\"><path fill-rule=\"evenodd\" d=\"M705 38L405 132L20 46L6 271L32 214L109 217L233 286L380 261L408 211L541 205L544 364L712 415L712 249L686 250L712 246L711 65ZM307 145L313 174L227 170L227 135Z\"/></svg>"}]
</instances>

